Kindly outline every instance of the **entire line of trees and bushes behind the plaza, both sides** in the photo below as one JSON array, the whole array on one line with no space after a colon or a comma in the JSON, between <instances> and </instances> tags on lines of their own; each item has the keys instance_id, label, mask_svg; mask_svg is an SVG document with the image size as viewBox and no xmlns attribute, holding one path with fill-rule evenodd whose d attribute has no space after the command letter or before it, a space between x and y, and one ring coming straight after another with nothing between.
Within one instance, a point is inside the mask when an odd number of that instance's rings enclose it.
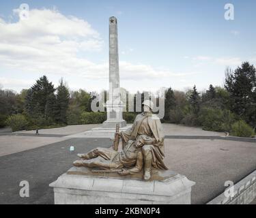
<instances>
[{"instance_id":1,"label":"entire line of trees and bushes behind the plaza, both sides","mask_svg":"<svg viewBox=\"0 0 256 218\"><path fill-rule=\"evenodd\" d=\"M145 93L142 93L142 99ZM91 101L97 95L82 89L70 91L63 78L55 89L46 76L18 94L0 89L0 127L11 125L13 131L17 131L102 123L106 112L91 112ZM124 112L124 119L131 123L137 113ZM186 92L171 87L166 89L162 121L202 126L210 131L227 131L237 136L253 136L256 127L255 67L244 62L234 71L228 68L224 87L210 84L209 89L202 93L196 86Z\"/></svg>"}]
</instances>

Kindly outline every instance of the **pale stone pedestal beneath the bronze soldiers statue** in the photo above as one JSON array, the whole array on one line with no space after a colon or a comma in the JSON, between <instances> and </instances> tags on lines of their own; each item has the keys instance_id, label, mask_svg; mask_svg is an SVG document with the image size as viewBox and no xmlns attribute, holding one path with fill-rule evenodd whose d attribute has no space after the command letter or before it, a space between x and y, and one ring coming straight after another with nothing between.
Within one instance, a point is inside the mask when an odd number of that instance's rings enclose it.
<instances>
[{"instance_id":1,"label":"pale stone pedestal beneath the bronze soldiers statue","mask_svg":"<svg viewBox=\"0 0 256 218\"><path fill-rule=\"evenodd\" d=\"M119 176L92 173L73 167L50 184L55 204L190 204L195 182L171 170L152 170L150 181L143 173Z\"/></svg>"}]
</instances>

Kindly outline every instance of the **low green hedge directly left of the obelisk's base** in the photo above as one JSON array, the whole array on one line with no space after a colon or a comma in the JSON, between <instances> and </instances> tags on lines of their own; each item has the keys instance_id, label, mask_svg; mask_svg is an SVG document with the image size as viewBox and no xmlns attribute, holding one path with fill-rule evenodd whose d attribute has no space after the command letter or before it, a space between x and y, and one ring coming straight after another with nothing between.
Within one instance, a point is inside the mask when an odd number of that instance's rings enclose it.
<instances>
[{"instance_id":1,"label":"low green hedge directly left of the obelisk's base","mask_svg":"<svg viewBox=\"0 0 256 218\"><path fill-rule=\"evenodd\" d=\"M83 112L81 124L103 123L106 120L106 112Z\"/></svg>"}]
</instances>

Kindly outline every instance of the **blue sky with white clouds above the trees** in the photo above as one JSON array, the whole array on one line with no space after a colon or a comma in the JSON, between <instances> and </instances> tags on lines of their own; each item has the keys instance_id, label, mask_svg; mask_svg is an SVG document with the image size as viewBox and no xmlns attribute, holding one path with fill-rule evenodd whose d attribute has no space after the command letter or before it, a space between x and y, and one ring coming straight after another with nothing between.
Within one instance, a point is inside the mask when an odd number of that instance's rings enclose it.
<instances>
[{"instance_id":1,"label":"blue sky with white clouds above the trees","mask_svg":"<svg viewBox=\"0 0 256 218\"><path fill-rule=\"evenodd\" d=\"M20 4L29 5L20 19ZM225 4L234 20L225 20ZM22 14L21 14L22 15ZM25 14L27 16L27 14ZM71 90L109 84L109 17L119 34L120 85L131 93L223 86L225 68L256 65L256 1L1 1L0 86L20 92L42 75Z\"/></svg>"}]
</instances>

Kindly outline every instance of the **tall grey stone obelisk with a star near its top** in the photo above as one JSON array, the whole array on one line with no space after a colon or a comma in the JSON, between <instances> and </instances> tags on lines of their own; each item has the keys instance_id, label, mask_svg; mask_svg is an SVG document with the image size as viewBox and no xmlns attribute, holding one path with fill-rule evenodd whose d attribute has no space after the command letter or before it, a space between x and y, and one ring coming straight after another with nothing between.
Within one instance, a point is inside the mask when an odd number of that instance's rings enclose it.
<instances>
[{"instance_id":1,"label":"tall grey stone obelisk with a star near its top","mask_svg":"<svg viewBox=\"0 0 256 218\"><path fill-rule=\"evenodd\" d=\"M115 128L125 127L126 121L123 119L124 104L121 101L119 86L119 57L118 57L118 35L117 18L109 18L109 99L106 101L107 119L103 127Z\"/></svg>"}]
</instances>

